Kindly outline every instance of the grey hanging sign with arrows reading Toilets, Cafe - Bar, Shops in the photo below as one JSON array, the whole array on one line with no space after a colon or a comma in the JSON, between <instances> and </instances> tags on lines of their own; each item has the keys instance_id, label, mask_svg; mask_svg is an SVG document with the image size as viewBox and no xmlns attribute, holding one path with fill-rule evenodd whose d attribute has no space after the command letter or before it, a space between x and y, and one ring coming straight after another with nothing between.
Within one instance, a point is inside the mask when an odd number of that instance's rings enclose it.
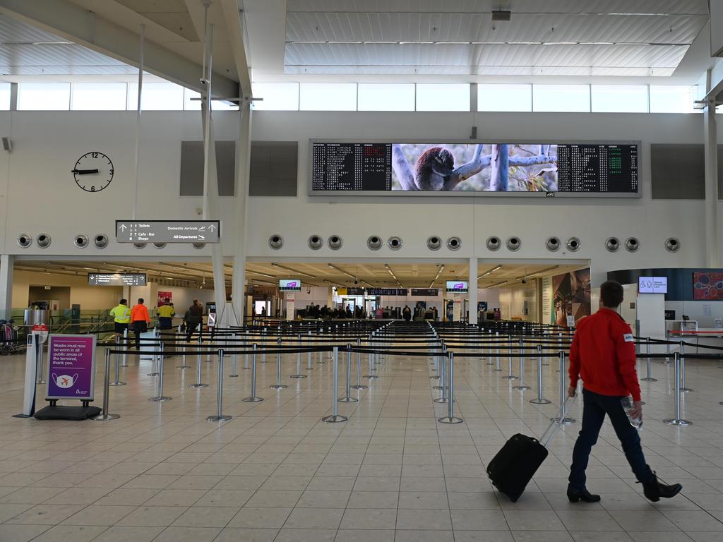
<instances>
[{"instance_id":1,"label":"grey hanging sign with arrows reading Toilets, Cafe - Bar, Shops","mask_svg":"<svg viewBox=\"0 0 723 542\"><path fill-rule=\"evenodd\" d=\"M218 243L218 220L116 220L119 243Z\"/></svg>"}]
</instances>

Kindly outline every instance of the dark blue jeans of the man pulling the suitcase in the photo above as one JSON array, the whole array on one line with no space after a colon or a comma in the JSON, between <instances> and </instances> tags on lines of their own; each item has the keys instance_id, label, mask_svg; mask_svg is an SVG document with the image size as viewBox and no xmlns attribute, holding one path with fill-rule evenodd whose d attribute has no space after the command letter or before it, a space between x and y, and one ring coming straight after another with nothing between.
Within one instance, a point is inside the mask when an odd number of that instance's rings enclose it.
<instances>
[{"instance_id":1,"label":"dark blue jeans of the man pulling the suitcase","mask_svg":"<svg viewBox=\"0 0 723 542\"><path fill-rule=\"evenodd\" d=\"M585 489L585 469L588 465L590 450L597 442L605 414L609 416L617 438L623 444L623 452L633 469L639 482L649 482L655 477L645 462L643 448L640 444L638 430L630 425L623 406L620 405L622 397L614 395L600 395L589 390L583 390L583 427L573 449L573 465L570 467L570 489L581 491Z\"/></svg>"}]
</instances>

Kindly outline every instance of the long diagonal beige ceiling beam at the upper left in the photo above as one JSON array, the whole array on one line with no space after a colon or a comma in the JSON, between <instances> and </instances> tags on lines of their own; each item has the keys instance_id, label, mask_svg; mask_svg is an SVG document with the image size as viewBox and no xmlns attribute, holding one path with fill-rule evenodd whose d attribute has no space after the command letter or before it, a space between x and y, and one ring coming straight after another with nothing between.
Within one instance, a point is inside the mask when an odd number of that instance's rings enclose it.
<instances>
[{"instance_id":1,"label":"long diagonal beige ceiling beam at the upper left","mask_svg":"<svg viewBox=\"0 0 723 542\"><path fill-rule=\"evenodd\" d=\"M137 33L68 0L0 0L0 9L10 17L48 30L93 51L131 66L138 65ZM147 72L199 93L203 92L200 64L150 40L145 40L143 55ZM239 83L214 72L213 95L237 96Z\"/></svg>"}]
</instances>

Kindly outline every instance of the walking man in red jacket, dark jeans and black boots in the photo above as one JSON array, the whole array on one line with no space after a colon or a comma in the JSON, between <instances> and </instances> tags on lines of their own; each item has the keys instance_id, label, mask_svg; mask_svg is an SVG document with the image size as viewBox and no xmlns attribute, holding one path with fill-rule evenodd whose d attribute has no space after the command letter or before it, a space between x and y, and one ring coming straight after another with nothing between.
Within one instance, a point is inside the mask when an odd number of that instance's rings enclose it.
<instances>
[{"instance_id":1,"label":"walking man in red jacket, dark jeans and black boots","mask_svg":"<svg viewBox=\"0 0 723 542\"><path fill-rule=\"evenodd\" d=\"M585 487L585 469L590 450L597 442L605 415L610 418L623 452L645 496L653 502L669 498L683 489L679 483L667 486L660 483L645 462L640 435L630 425L620 400L633 396L632 418L643 419L640 384L636 371L633 333L615 309L623 302L623 286L612 280L600 287L600 310L580 320L570 348L570 388L575 396L578 379L583 380L582 430L573 449L570 467L568 499L570 502L598 502L599 495L590 494Z\"/></svg>"}]
</instances>

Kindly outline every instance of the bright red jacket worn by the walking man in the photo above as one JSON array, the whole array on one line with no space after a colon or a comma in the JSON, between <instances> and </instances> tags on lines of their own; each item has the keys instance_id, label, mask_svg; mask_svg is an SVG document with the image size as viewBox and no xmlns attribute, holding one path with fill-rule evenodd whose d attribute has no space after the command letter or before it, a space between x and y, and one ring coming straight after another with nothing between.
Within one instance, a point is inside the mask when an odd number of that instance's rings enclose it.
<instances>
[{"instance_id":1,"label":"bright red jacket worn by the walking man","mask_svg":"<svg viewBox=\"0 0 723 542\"><path fill-rule=\"evenodd\" d=\"M591 392L640 400L633 333L617 312L600 309L578 322L570 347L570 386L580 377Z\"/></svg>"}]
</instances>

